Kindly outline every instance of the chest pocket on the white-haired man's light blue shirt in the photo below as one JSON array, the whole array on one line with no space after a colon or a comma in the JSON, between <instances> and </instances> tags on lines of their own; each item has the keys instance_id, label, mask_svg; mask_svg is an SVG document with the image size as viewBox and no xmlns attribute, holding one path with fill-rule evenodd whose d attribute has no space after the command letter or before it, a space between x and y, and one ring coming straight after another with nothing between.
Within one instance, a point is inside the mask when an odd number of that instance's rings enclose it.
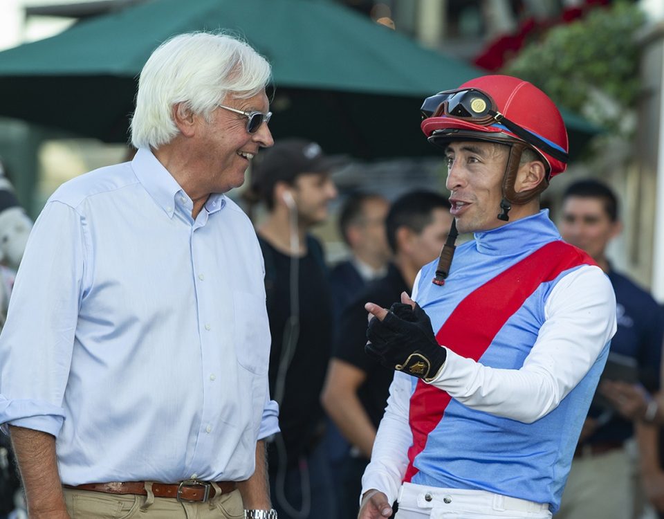
<instances>
[{"instance_id":1,"label":"chest pocket on the white-haired man's light blue shirt","mask_svg":"<svg viewBox=\"0 0 664 519\"><path fill-rule=\"evenodd\" d=\"M235 354L237 362L255 374L266 374L270 363L270 324L265 299L234 291Z\"/></svg>"}]
</instances>

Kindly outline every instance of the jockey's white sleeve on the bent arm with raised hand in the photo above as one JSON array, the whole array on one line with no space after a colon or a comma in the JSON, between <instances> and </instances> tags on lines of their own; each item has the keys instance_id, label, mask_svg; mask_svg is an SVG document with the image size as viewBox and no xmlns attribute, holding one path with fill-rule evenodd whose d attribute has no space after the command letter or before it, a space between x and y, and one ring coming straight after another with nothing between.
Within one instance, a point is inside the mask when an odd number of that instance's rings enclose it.
<instances>
[{"instance_id":1,"label":"jockey's white sleeve on the bent arm with raised hand","mask_svg":"<svg viewBox=\"0 0 664 519\"><path fill-rule=\"evenodd\" d=\"M470 408L530 424L555 409L616 333L616 297L597 266L564 276L544 306L545 322L519 370L487 367L448 348L432 385Z\"/></svg>"}]
</instances>

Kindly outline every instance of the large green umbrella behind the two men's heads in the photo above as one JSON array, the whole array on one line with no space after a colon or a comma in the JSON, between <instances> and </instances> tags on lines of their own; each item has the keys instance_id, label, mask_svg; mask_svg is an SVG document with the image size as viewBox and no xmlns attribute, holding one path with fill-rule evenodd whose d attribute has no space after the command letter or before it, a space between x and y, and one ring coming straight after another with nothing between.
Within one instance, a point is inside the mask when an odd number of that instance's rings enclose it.
<instances>
[{"instance_id":1,"label":"large green umbrella behind the two men's heads","mask_svg":"<svg viewBox=\"0 0 664 519\"><path fill-rule=\"evenodd\" d=\"M421 101L482 74L331 1L153 0L0 53L0 115L124 142L154 48L219 29L273 64L275 138L311 138L361 158L436 152L419 129ZM572 151L597 131L566 120Z\"/></svg>"}]
</instances>

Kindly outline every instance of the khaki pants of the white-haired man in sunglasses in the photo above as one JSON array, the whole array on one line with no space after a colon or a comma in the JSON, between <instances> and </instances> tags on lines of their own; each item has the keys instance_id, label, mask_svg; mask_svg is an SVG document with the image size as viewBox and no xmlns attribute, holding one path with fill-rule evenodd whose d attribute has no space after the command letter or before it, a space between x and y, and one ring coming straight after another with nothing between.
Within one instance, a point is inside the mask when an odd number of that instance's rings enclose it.
<instances>
[{"instance_id":1,"label":"khaki pants of the white-haired man in sunglasses","mask_svg":"<svg viewBox=\"0 0 664 519\"><path fill-rule=\"evenodd\" d=\"M64 502L71 519L239 519L244 517L238 490L217 494L208 502L178 502L148 495L111 494L64 489Z\"/></svg>"}]
</instances>

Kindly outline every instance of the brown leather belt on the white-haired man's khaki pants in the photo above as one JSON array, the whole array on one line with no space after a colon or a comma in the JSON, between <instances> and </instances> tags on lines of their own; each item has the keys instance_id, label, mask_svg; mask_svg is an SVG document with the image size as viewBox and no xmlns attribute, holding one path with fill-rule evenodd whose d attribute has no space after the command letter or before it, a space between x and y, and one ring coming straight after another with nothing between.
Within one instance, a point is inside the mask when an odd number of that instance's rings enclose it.
<instances>
[{"instance_id":1,"label":"brown leather belt on the white-haired man's khaki pants","mask_svg":"<svg viewBox=\"0 0 664 519\"><path fill-rule=\"evenodd\" d=\"M234 481L218 481L216 484L222 494L227 494L237 488ZM111 494L147 495L145 482L131 481L126 483L86 483L78 486L64 485L68 489L89 490L93 492L106 492ZM179 483L152 483L152 493L156 498L175 498L178 501L206 502L216 495L212 483L199 480L185 480Z\"/></svg>"}]
</instances>

